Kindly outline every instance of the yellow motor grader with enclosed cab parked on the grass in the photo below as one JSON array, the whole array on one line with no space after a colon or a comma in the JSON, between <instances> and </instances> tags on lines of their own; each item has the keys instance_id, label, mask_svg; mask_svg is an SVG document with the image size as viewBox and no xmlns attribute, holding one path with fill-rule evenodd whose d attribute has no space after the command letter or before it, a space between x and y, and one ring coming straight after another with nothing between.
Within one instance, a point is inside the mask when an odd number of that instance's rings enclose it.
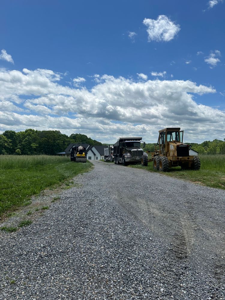
<instances>
[{"instance_id":1,"label":"yellow motor grader with enclosed cab parked on the grass","mask_svg":"<svg viewBox=\"0 0 225 300\"><path fill-rule=\"evenodd\" d=\"M153 169L167 172L171 167L180 166L183 170L199 170L200 160L198 156L190 155L191 145L183 143L184 131L180 128L165 128L159 131L158 144L154 152L143 153L142 166L148 166L153 161Z\"/></svg>"}]
</instances>

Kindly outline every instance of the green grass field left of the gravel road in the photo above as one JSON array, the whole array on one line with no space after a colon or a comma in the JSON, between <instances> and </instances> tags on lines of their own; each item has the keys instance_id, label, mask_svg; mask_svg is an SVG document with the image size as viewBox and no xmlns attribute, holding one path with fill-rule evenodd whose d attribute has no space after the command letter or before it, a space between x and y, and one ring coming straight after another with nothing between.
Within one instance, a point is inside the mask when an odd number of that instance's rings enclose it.
<instances>
[{"instance_id":1,"label":"green grass field left of the gravel road","mask_svg":"<svg viewBox=\"0 0 225 300\"><path fill-rule=\"evenodd\" d=\"M32 195L91 169L92 164L70 162L61 156L0 156L0 216L28 205Z\"/></svg>"}]
</instances>

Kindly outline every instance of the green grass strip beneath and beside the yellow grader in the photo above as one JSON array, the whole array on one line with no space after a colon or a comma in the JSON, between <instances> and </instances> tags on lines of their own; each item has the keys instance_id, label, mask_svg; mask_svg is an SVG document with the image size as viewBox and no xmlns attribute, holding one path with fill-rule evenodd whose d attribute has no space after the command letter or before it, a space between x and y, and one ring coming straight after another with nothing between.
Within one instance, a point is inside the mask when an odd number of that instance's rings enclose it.
<instances>
[{"instance_id":1,"label":"green grass strip beneath and beside the yellow grader","mask_svg":"<svg viewBox=\"0 0 225 300\"><path fill-rule=\"evenodd\" d=\"M199 171L181 170L181 167L170 168L169 172L163 173L167 176L196 182L208 187L215 187L225 190L225 155L199 155L201 168ZM158 172L153 170L153 162L148 167L141 165L131 165L133 168L145 168L150 172Z\"/></svg>"}]
</instances>

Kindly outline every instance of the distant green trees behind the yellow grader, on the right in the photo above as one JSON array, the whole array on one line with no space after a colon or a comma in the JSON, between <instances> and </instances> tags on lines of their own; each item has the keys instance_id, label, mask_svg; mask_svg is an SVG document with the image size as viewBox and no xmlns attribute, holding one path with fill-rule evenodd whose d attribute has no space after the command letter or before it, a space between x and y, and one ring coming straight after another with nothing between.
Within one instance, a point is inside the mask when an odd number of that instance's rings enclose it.
<instances>
[{"instance_id":1,"label":"distant green trees behind the yellow grader, on the right","mask_svg":"<svg viewBox=\"0 0 225 300\"><path fill-rule=\"evenodd\" d=\"M222 140L213 140L213 141L205 141L203 143L185 143L188 145L192 145L193 150L199 152L200 154L225 154L225 139ZM155 145L157 144L146 144L144 151L154 152Z\"/></svg>"}]
</instances>

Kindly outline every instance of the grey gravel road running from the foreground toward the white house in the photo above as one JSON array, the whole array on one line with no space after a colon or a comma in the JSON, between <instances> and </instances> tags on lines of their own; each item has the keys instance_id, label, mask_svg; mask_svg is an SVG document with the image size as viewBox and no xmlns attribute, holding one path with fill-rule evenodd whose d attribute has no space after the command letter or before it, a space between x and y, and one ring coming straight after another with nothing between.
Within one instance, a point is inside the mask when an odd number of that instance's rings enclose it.
<instances>
[{"instance_id":1,"label":"grey gravel road running from the foreground toward the white house","mask_svg":"<svg viewBox=\"0 0 225 300\"><path fill-rule=\"evenodd\" d=\"M0 299L225 299L225 191L93 164L1 234Z\"/></svg>"}]
</instances>

